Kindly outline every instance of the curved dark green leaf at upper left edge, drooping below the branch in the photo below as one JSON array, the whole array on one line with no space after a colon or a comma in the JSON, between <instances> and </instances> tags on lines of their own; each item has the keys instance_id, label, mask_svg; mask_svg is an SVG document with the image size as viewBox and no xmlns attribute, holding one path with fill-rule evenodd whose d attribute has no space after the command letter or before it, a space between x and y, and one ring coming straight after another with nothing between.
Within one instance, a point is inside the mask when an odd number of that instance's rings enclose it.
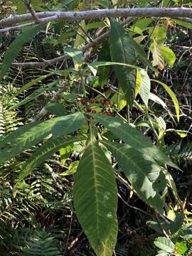
<instances>
[{"instance_id":1,"label":"curved dark green leaf at upper left edge, drooping below the branch","mask_svg":"<svg viewBox=\"0 0 192 256\"><path fill-rule=\"evenodd\" d=\"M18 35L16 39L11 43L9 49L6 50L4 61L1 66L0 81L4 78L4 75L6 75L6 71L9 70L11 63L13 63L21 47L28 41L31 41L32 38L36 36L36 33L38 33L38 31L41 31L44 28L44 26L44 24L40 24L37 26L33 26L31 28L27 28L25 31L23 31L23 33Z\"/></svg>"}]
</instances>

